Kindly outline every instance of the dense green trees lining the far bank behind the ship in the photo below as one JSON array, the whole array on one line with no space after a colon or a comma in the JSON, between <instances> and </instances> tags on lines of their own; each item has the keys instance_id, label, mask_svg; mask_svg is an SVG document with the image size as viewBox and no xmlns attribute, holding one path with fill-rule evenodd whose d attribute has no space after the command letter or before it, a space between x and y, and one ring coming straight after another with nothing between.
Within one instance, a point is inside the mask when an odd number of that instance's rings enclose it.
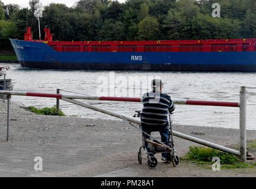
<instances>
[{"instance_id":1,"label":"dense green trees lining the far bank behind the ship","mask_svg":"<svg viewBox=\"0 0 256 189\"><path fill-rule=\"evenodd\" d=\"M216 2L220 18L212 17ZM0 49L11 49L9 38L23 40L27 27L39 38L34 4L0 0ZM40 23L41 34L48 27L59 41L256 38L256 0L80 0L43 6Z\"/></svg>"}]
</instances>

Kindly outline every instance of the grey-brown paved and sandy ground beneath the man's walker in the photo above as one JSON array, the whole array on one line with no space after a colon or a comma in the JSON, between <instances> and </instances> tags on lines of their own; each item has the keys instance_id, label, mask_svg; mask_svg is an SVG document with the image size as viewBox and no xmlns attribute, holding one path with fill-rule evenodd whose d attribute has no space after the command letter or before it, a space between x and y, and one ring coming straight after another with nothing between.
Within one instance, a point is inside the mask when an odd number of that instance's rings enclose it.
<instances>
[{"instance_id":1,"label":"grey-brown paved and sandy ground beneath the man's walker","mask_svg":"<svg viewBox=\"0 0 256 189\"><path fill-rule=\"evenodd\" d=\"M161 162L154 169L137 162L141 133L127 123L43 116L11 103L10 140L6 141L7 104L0 100L0 177L255 177L255 169L212 171L189 162L174 168ZM239 125L239 123L236 123ZM238 129L174 125L174 131L231 146L239 142ZM199 135L200 134L200 135ZM256 131L247 131L248 140ZM177 155L196 143L174 137ZM43 171L34 170L34 158L43 159Z\"/></svg>"}]
</instances>

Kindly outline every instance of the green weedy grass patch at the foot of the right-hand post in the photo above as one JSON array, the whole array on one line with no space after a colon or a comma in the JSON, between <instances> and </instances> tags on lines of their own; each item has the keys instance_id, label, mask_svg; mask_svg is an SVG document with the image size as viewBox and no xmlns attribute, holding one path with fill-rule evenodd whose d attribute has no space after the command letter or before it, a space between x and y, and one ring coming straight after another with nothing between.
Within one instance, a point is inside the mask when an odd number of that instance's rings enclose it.
<instances>
[{"instance_id":1,"label":"green weedy grass patch at the foot of the right-hand post","mask_svg":"<svg viewBox=\"0 0 256 189\"><path fill-rule=\"evenodd\" d=\"M184 157L181 159L184 161L192 161L196 162L199 165L204 166L206 169L209 169L208 165L212 165L213 157L220 158L220 164L222 164L221 168L224 169L236 169L236 168L255 168L256 162L252 163L244 163L241 162L238 157L232 154L228 154L226 152L218 151L213 148L206 148L203 146L190 146L190 151L188 151ZM212 168L212 167L210 167Z\"/></svg>"}]
</instances>

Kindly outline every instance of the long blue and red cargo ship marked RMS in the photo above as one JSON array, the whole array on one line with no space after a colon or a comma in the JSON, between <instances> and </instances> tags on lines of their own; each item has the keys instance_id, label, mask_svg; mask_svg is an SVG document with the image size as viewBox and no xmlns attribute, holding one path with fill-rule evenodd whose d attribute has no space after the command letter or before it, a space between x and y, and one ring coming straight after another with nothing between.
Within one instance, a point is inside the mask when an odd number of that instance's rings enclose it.
<instances>
[{"instance_id":1,"label":"long blue and red cargo ship marked RMS","mask_svg":"<svg viewBox=\"0 0 256 189\"><path fill-rule=\"evenodd\" d=\"M256 39L53 41L10 39L22 67L73 70L256 71Z\"/></svg>"}]
</instances>

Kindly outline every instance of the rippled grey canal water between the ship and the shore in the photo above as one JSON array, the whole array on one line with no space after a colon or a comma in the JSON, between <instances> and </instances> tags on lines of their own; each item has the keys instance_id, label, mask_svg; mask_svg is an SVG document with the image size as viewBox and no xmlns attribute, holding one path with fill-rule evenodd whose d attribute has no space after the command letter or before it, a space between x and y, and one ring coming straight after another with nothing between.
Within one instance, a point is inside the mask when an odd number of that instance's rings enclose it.
<instances>
[{"instance_id":1,"label":"rippled grey canal water between the ship and the shore","mask_svg":"<svg viewBox=\"0 0 256 189\"><path fill-rule=\"evenodd\" d=\"M140 97L147 82L153 77L164 82L163 92L174 100L213 100L239 102L241 86L256 87L256 73L183 72L183 71L85 71L24 69L11 64L10 73L14 90L92 96ZM145 87L146 86L146 87ZM65 91L64 91L65 90ZM256 129L256 89L247 89L247 128ZM52 107L56 99L44 97L12 96L12 100L25 106ZM113 112L133 116L142 109L142 103L81 100ZM66 115L93 119L117 119L60 100ZM239 108L215 106L176 105L173 123L224 128L239 128Z\"/></svg>"}]
</instances>

